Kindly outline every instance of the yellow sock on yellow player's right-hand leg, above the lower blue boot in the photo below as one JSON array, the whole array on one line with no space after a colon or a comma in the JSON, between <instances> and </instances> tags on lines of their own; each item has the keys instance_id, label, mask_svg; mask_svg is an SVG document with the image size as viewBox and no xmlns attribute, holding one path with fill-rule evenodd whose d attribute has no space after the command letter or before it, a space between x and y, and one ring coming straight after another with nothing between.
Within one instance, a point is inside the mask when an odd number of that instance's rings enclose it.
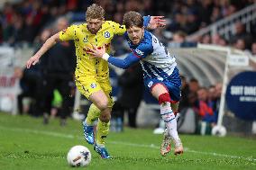
<instances>
[{"instance_id":1,"label":"yellow sock on yellow player's right-hand leg, above the lower blue boot","mask_svg":"<svg viewBox=\"0 0 256 170\"><path fill-rule=\"evenodd\" d=\"M96 133L96 144L105 145L105 138L109 132L110 121L103 122L98 119L97 133Z\"/></svg>"}]
</instances>

